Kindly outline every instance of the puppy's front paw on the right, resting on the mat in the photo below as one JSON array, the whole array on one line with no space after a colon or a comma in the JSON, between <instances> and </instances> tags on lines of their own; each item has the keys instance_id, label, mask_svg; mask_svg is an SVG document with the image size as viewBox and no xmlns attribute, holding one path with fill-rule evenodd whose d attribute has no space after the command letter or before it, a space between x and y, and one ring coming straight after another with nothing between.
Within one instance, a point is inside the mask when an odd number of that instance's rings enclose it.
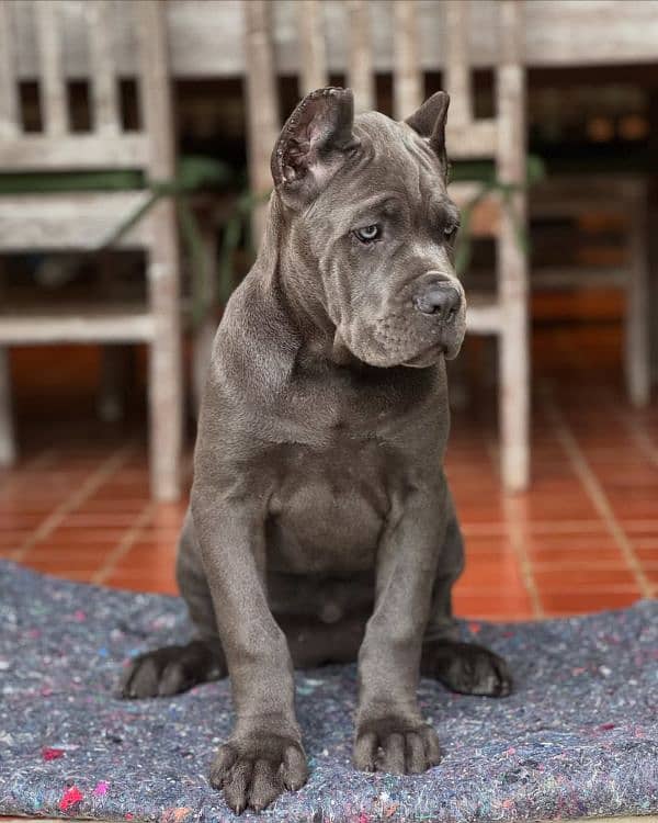
<instances>
[{"instance_id":1,"label":"puppy's front paw on the right, resting on the mat","mask_svg":"<svg viewBox=\"0 0 658 823\"><path fill-rule=\"evenodd\" d=\"M360 725L354 743L354 767L362 771L416 775L441 759L436 732L424 723L394 715Z\"/></svg>"}]
</instances>

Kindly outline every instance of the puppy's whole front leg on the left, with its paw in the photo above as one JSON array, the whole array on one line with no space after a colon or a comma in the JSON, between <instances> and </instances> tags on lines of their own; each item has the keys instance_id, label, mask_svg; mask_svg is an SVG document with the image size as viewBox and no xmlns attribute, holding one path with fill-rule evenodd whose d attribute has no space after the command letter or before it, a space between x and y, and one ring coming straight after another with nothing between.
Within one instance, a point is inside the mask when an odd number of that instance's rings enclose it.
<instances>
[{"instance_id":1,"label":"puppy's whole front leg on the left, with its paw","mask_svg":"<svg viewBox=\"0 0 658 823\"><path fill-rule=\"evenodd\" d=\"M196 493L192 507L236 712L211 782L235 812L260 811L307 777L291 655L264 587L265 512L253 491Z\"/></svg>"}]
</instances>

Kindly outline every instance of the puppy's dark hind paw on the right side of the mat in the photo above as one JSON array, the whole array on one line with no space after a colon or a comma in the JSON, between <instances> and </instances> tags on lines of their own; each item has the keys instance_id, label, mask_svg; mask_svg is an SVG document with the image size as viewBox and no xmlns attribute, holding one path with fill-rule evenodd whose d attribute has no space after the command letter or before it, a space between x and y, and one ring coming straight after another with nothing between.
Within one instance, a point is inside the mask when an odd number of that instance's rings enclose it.
<instances>
[{"instance_id":1,"label":"puppy's dark hind paw on the right side of the mat","mask_svg":"<svg viewBox=\"0 0 658 823\"><path fill-rule=\"evenodd\" d=\"M422 650L421 674L462 695L507 697L512 691L507 663L475 643L428 641Z\"/></svg>"}]
</instances>

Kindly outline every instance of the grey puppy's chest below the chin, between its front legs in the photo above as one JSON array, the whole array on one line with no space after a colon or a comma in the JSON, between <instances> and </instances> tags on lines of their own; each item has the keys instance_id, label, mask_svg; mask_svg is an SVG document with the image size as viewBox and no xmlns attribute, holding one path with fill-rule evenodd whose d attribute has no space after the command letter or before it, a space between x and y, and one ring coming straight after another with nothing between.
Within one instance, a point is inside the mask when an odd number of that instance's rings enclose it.
<instances>
[{"instance_id":1,"label":"grey puppy's chest below the chin, between its front legs","mask_svg":"<svg viewBox=\"0 0 658 823\"><path fill-rule=\"evenodd\" d=\"M404 498L412 471L419 403L404 377L400 385L343 372L297 384L286 406L287 442L276 448L271 568L373 567L393 501Z\"/></svg>"}]
</instances>

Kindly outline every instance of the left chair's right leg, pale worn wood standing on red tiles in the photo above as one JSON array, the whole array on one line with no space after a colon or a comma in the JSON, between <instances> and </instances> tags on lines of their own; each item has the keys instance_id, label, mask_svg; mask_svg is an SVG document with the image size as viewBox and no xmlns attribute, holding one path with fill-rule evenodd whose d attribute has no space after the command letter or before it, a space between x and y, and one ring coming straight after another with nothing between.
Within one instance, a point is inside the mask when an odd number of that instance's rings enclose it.
<instances>
[{"instance_id":1,"label":"left chair's right leg, pale worn wood standing on red tiles","mask_svg":"<svg viewBox=\"0 0 658 823\"><path fill-rule=\"evenodd\" d=\"M154 208L148 272L155 322L149 357L151 495L162 501L180 496L183 430L179 257L172 210L170 202Z\"/></svg>"}]
</instances>

